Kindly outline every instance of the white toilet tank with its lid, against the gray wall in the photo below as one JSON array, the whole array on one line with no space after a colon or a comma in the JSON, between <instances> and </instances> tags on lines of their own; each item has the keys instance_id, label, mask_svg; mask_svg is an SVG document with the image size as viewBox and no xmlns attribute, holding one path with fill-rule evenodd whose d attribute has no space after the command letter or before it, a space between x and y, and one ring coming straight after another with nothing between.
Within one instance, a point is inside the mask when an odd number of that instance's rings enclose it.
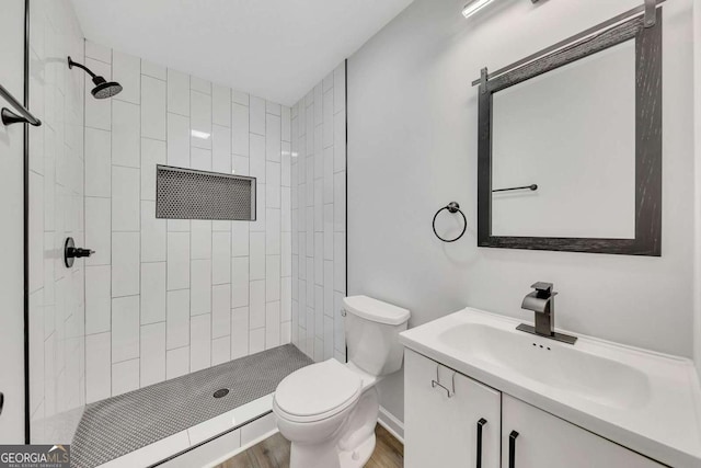
<instances>
[{"instance_id":1,"label":"white toilet tank with its lid, against the gray wall","mask_svg":"<svg viewBox=\"0 0 701 468\"><path fill-rule=\"evenodd\" d=\"M348 362L375 376L399 370L404 356L399 334L406 330L409 310L367 296L346 297L343 308Z\"/></svg>"}]
</instances>

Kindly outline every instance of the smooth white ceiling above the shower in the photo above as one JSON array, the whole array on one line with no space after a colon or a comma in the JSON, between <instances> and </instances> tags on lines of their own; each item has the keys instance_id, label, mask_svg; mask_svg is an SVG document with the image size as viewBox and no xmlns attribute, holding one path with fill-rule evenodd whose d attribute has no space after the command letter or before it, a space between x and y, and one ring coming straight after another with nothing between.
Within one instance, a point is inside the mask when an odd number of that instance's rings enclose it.
<instances>
[{"instance_id":1,"label":"smooth white ceiling above the shower","mask_svg":"<svg viewBox=\"0 0 701 468\"><path fill-rule=\"evenodd\" d=\"M413 0L72 0L85 37L291 105Z\"/></svg>"}]
</instances>

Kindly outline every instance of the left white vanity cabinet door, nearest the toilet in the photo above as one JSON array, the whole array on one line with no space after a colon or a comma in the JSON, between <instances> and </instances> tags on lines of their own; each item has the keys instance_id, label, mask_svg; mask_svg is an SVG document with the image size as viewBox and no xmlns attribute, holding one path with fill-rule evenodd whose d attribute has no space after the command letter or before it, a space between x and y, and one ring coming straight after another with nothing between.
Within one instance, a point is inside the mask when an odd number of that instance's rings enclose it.
<instances>
[{"instance_id":1,"label":"left white vanity cabinet door, nearest the toilet","mask_svg":"<svg viewBox=\"0 0 701 468\"><path fill-rule=\"evenodd\" d=\"M404 363L404 467L498 468L501 393L410 350Z\"/></svg>"}]
</instances>

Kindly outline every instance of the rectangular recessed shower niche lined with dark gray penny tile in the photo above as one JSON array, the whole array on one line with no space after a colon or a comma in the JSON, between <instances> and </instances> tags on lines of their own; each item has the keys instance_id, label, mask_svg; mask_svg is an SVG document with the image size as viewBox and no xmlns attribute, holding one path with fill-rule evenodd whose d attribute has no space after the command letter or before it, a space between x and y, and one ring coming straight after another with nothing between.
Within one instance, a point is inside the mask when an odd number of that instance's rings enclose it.
<instances>
[{"instance_id":1,"label":"rectangular recessed shower niche lined with dark gray penny tile","mask_svg":"<svg viewBox=\"0 0 701 468\"><path fill-rule=\"evenodd\" d=\"M157 165L156 217L255 221L255 178Z\"/></svg>"}]
</instances>

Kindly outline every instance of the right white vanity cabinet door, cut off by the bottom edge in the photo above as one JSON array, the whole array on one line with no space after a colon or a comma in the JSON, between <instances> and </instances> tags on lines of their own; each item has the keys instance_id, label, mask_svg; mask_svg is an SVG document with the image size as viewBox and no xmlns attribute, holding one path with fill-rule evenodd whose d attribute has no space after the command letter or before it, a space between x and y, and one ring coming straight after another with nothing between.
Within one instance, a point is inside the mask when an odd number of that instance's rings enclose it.
<instances>
[{"instance_id":1,"label":"right white vanity cabinet door, cut off by the bottom edge","mask_svg":"<svg viewBox=\"0 0 701 468\"><path fill-rule=\"evenodd\" d=\"M663 467L506 393L502 427L502 468Z\"/></svg>"}]
</instances>

